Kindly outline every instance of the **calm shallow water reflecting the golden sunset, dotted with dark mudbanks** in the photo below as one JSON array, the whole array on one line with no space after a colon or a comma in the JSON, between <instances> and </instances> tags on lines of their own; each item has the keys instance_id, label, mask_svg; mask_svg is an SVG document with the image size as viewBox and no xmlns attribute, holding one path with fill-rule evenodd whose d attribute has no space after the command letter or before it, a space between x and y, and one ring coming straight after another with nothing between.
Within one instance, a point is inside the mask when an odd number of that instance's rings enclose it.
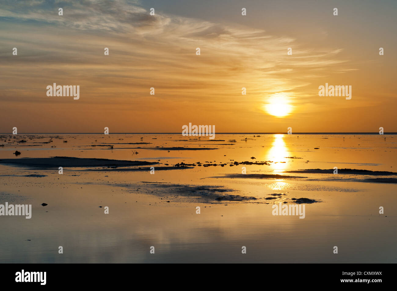
<instances>
[{"instance_id":1,"label":"calm shallow water reflecting the golden sunset, dotted with dark mudbanks","mask_svg":"<svg viewBox=\"0 0 397 291\"><path fill-rule=\"evenodd\" d=\"M333 174L334 167L397 172L396 135L259 135L216 134L212 141L180 134L2 135L0 204L32 204L33 213L31 219L0 216L0 261L397 262L396 184L363 183L396 175ZM21 139L26 142L17 143ZM207 150L172 149L177 147ZM15 156L15 150L21 154ZM150 174L150 166L4 163L54 156L159 164ZM195 166L174 167L181 162ZM156 170L165 164L175 169ZM64 167L62 175L58 166ZM242 167L247 174L294 178L227 176L241 174ZM287 173L302 169L330 172ZM46 176L26 177L32 174ZM204 190L180 191L186 186ZM265 199L274 193L285 195ZM224 195L256 199L224 200ZM272 215L273 204L294 204L292 198L301 197L318 201L305 204L304 219ZM43 202L48 205L41 206ZM109 214L98 206L108 206ZM380 206L384 214L379 214ZM58 254L59 246L63 254ZM247 254L241 253L242 246Z\"/></svg>"}]
</instances>

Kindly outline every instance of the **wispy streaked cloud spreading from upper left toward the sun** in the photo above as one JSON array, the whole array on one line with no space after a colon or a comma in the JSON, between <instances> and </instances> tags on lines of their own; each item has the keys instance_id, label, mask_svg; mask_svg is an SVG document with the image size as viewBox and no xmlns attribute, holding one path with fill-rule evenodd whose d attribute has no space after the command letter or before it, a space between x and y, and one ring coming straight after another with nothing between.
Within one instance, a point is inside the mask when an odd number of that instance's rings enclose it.
<instances>
[{"instance_id":1,"label":"wispy streaked cloud spreading from upper left toward the sun","mask_svg":"<svg viewBox=\"0 0 397 291\"><path fill-rule=\"evenodd\" d=\"M178 104L203 110L208 101L214 112L250 114L277 92L309 101L312 80L351 69L339 48L303 48L288 36L157 10L151 16L135 1L6 1L0 21L7 84L0 99L8 102L48 103L43 90L54 82L80 85L80 106L112 104L115 114L131 99L129 110L139 112L152 110L148 101L155 100L170 112ZM156 96L148 96L150 87ZM249 98L242 99L242 87Z\"/></svg>"}]
</instances>

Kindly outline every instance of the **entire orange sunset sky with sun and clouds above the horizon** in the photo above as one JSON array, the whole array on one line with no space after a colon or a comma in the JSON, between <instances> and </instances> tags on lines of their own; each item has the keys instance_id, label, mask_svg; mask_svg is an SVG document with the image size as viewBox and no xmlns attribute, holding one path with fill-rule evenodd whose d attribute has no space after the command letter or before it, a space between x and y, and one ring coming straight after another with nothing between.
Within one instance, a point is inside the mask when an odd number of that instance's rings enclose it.
<instances>
[{"instance_id":1,"label":"entire orange sunset sky with sun and clouds above the horizon","mask_svg":"<svg viewBox=\"0 0 397 291\"><path fill-rule=\"evenodd\" d=\"M2 133L397 132L394 0L0 3Z\"/></svg>"}]
</instances>

